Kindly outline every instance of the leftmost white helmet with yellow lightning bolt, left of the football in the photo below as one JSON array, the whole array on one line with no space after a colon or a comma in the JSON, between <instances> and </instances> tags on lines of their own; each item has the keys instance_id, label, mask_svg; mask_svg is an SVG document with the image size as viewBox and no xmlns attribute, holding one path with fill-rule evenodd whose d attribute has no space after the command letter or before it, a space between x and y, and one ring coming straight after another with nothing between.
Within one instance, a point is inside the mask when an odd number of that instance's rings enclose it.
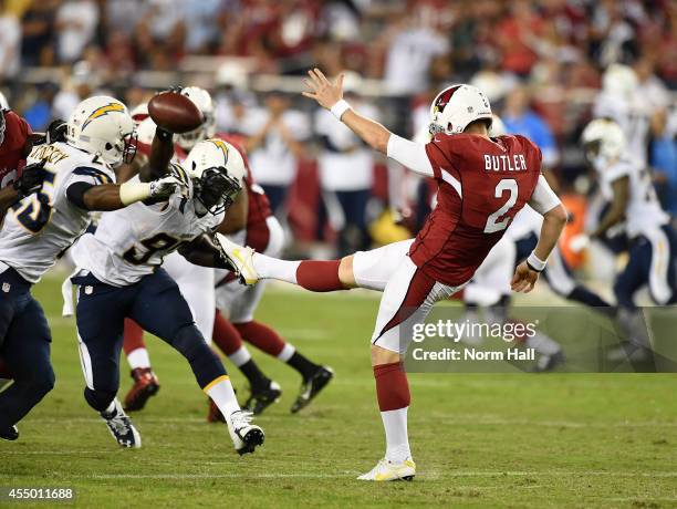
<instances>
[{"instance_id":1,"label":"leftmost white helmet with yellow lightning bolt, left of the football","mask_svg":"<svg viewBox=\"0 0 677 509\"><path fill-rule=\"evenodd\" d=\"M96 154L113 168L132 163L136 155L136 131L127 106L116 98L85 98L69 117L66 143Z\"/></svg>"}]
</instances>

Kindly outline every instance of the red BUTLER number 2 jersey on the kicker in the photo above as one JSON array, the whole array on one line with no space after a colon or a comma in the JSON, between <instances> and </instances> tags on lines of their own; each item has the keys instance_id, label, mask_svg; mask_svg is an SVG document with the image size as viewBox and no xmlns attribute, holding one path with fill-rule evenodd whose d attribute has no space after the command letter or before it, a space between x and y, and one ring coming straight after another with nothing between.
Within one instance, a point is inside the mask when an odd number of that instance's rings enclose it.
<instances>
[{"instance_id":1,"label":"red BUTLER number 2 jersey on the kicker","mask_svg":"<svg viewBox=\"0 0 677 509\"><path fill-rule=\"evenodd\" d=\"M427 276L450 287L472 278L541 175L541 150L520 135L488 139L438 134L426 145L437 206L409 250Z\"/></svg>"}]
</instances>

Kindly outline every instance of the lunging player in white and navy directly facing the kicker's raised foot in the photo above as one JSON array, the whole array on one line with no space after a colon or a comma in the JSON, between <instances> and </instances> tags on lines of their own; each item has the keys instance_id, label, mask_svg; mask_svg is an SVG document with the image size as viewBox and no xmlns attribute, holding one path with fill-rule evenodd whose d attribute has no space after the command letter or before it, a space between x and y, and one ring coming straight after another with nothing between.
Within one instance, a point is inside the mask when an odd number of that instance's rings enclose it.
<instances>
[{"instance_id":1,"label":"lunging player in white and navy directly facing the kicker's raised foot","mask_svg":"<svg viewBox=\"0 0 677 509\"><path fill-rule=\"evenodd\" d=\"M168 167L185 188L167 201L104 214L96 231L84 235L73 249L84 395L121 446L140 447L140 435L116 398L124 321L131 318L188 360L198 384L226 417L236 450L253 453L263 443L263 432L240 409L223 365L196 326L178 285L160 267L178 250L192 263L230 268L210 237L242 189L244 163L228 143L207 139L192 148L184 167ZM139 177L143 168L131 181Z\"/></svg>"}]
</instances>

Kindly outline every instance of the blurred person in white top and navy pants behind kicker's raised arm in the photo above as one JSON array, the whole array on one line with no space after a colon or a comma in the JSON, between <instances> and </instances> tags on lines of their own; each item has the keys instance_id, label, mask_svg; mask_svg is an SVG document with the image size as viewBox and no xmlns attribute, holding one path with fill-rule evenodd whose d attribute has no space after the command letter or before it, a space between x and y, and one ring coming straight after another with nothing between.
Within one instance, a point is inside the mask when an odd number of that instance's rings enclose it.
<instances>
[{"instance_id":1,"label":"blurred person in white top and navy pants behind kicker's raised arm","mask_svg":"<svg viewBox=\"0 0 677 509\"><path fill-rule=\"evenodd\" d=\"M358 95L360 79L346 74L344 93L361 114L377 120L377 110ZM367 249L366 209L374 184L374 152L326 110L315 112L320 183L330 226L338 233L337 257Z\"/></svg>"}]
</instances>

